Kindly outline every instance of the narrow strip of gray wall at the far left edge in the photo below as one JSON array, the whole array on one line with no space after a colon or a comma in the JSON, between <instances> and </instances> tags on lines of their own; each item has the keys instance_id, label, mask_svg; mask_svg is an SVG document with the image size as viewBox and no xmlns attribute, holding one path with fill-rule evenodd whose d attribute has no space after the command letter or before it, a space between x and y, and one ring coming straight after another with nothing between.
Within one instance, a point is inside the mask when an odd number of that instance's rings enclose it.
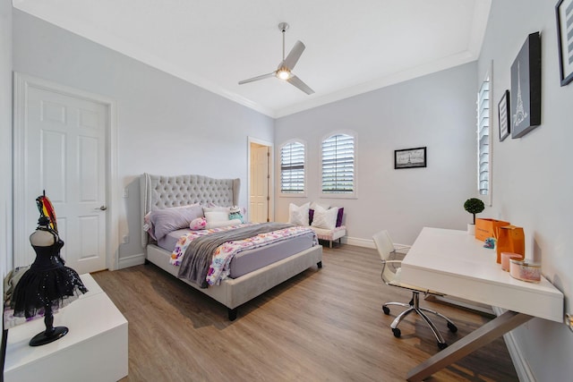
<instances>
[{"instance_id":1,"label":"narrow strip of gray wall at the far left edge","mask_svg":"<svg viewBox=\"0 0 573 382\"><path fill-rule=\"evenodd\" d=\"M0 0L0 275L12 268L12 1ZM4 284L0 286L4 295Z\"/></svg>"}]
</instances>

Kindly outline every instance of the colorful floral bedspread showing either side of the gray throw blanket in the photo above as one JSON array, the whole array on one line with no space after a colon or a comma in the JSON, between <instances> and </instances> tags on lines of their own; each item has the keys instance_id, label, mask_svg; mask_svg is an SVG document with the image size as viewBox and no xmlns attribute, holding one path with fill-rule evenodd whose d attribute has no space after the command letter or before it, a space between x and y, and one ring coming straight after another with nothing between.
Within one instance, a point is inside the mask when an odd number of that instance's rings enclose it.
<instances>
[{"instance_id":1,"label":"colorful floral bedspread showing either side of the gray throw blanket","mask_svg":"<svg viewBox=\"0 0 573 382\"><path fill-rule=\"evenodd\" d=\"M171 259L169 262L174 266L180 266L183 260L184 253L187 250L189 244L196 238L210 234L218 233L222 231L233 230L235 228L244 227L246 225L253 225L257 223L247 223L243 225L229 225L219 228L210 228L206 230L192 231L187 233L175 244L175 250L171 253ZM232 242L226 242L223 245L218 246L215 253L213 253L213 259L211 261L209 271L207 273L207 283L210 285L219 284L221 280L227 278L230 272L230 263L235 255L243 250L252 250L256 248L261 248L266 245L272 244L274 242L280 242L286 239L290 239L297 236L302 236L307 233L312 233L312 245L318 244L318 239L316 233L307 227L301 225L295 225L278 231L273 231L270 233L260 233L256 236L252 236L244 240L236 240Z\"/></svg>"}]
</instances>

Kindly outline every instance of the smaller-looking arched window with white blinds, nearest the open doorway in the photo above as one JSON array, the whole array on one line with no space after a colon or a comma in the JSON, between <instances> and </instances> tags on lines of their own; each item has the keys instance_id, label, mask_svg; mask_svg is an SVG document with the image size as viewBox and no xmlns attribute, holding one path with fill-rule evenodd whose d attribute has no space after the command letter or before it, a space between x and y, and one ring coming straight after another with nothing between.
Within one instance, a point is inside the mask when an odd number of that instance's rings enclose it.
<instances>
[{"instance_id":1,"label":"smaller-looking arched window with white blinds, nearest the open doorway","mask_svg":"<svg viewBox=\"0 0 573 382\"><path fill-rule=\"evenodd\" d=\"M290 142L280 149L280 191L304 193L304 144Z\"/></svg>"}]
</instances>

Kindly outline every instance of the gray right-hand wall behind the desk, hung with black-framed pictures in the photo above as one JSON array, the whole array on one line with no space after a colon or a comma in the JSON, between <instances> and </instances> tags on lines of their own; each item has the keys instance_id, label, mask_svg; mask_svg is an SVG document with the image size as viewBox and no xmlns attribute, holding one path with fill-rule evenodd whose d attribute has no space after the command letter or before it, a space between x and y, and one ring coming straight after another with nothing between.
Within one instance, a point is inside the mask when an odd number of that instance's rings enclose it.
<instances>
[{"instance_id":1,"label":"gray right-hand wall behind the desk, hung with black-framed pictures","mask_svg":"<svg viewBox=\"0 0 573 382\"><path fill-rule=\"evenodd\" d=\"M560 87L557 1L492 2L478 81L493 61L495 105L510 89L509 69L529 33L542 35L542 124L521 139L493 142L493 205L490 216L523 226L526 256L542 262L543 275L566 296L573 295L573 211L571 170L571 106L573 83ZM498 126L494 113L493 126ZM535 303L535 301L531 301ZM513 332L517 346L539 381L571 380L573 333L564 325L535 319Z\"/></svg>"}]
</instances>

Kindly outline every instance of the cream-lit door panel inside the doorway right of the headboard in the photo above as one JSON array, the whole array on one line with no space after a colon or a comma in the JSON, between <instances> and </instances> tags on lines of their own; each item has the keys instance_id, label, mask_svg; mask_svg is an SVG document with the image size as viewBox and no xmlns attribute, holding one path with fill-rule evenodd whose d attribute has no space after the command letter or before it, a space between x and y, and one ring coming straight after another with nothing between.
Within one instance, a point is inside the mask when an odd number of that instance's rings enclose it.
<instances>
[{"instance_id":1,"label":"cream-lit door panel inside the doorway right of the headboard","mask_svg":"<svg viewBox=\"0 0 573 382\"><path fill-rule=\"evenodd\" d=\"M255 223L269 221L269 148L251 146L251 184L249 216Z\"/></svg>"}]
</instances>

